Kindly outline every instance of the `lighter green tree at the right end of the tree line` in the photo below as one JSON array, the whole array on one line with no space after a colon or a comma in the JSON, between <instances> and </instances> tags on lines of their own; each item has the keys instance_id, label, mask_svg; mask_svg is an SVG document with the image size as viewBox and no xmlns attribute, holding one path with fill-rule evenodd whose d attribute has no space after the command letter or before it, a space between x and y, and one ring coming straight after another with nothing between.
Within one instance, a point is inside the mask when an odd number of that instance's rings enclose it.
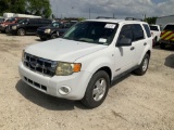
<instances>
[{"instance_id":1,"label":"lighter green tree at the right end of the tree line","mask_svg":"<svg viewBox=\"0 0 174 130\"><path fill-rule=\"evenodd\" d=\"M48 18L51 15L50 0L26 0L26 11Z\"/></svg>"}]
</instances>

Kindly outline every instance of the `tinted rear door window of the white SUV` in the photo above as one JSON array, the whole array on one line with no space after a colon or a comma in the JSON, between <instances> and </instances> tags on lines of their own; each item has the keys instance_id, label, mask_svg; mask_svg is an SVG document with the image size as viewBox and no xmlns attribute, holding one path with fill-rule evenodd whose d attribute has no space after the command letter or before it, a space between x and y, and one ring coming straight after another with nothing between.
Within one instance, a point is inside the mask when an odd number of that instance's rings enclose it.
<instances>
[{"instance_id":1,"label":"tinted rear door window of the white SUV","mask_svg":"<svg viewBox=\"0 0 174 130\"><path fill-rule=\"evenodd\" d=\"M132 25L132 28L134 34L134 41L141 40L145 38L144 30L139 24Z\"/></svg>"}]
</instances>

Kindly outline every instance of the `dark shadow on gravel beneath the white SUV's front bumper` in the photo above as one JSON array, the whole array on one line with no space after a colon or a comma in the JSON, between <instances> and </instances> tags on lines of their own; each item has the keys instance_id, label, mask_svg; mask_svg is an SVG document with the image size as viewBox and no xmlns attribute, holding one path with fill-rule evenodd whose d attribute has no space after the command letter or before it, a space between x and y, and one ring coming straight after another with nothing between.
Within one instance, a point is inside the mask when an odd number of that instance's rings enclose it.
<instances>
[{"instance_id":1,"label":"dark shadow on gravel beneath the white SUV's front bumper","mask_svg":"<svg viewBox=\"0 0 174 130\"><path fill-rule=\"evenodd\" d=\"M54 98L54 96L45 94L29 87L22 80L17 81L15 88L25 99L27 99L34 104L41 106L46 109L73 110L75 109L75 107L80 108L80 109L87 109L80 102L63 100L63 99L59 99L59 98Z\"/></svg>"}]
</instances>

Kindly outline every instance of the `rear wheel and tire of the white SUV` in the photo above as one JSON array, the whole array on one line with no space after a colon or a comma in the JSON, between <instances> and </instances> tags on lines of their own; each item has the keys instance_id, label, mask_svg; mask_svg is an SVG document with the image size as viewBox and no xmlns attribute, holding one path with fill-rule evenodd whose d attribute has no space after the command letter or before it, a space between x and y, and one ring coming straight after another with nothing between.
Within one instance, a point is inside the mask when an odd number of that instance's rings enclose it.
<instances>
[{"instance_id":1,"label":"rear wheel and tire of the white SUV","mask_svg":"<svg viewBox=\"0 0 174 130\"><path fill-rule=\"evenodd\" d=\"M145 54L142 62L140 63L139 67L135 70L135 74L138 76L142 76L146 74L148 66L149 66L149 54Z\"/></svg>"}]
</instances>

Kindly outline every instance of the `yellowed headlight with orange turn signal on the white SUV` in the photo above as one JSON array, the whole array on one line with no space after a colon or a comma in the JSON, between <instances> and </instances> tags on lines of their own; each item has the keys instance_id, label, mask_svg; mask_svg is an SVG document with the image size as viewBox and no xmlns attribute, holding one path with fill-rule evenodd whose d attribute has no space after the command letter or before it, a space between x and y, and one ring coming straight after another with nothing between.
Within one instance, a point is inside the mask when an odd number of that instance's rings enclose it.
<instances>
[{"instance_id":1,"label":"yellowed headlight with orange turn signal on the white SUV","mask_svg":"<svg viewBox=\"0 0 174 130\"><path fill-rule=\"evenodd\" d=\"M82 64L59 62L57 66L57 76L69 76L73 73L80 72Z\"/></svg>"}]
</instances>

